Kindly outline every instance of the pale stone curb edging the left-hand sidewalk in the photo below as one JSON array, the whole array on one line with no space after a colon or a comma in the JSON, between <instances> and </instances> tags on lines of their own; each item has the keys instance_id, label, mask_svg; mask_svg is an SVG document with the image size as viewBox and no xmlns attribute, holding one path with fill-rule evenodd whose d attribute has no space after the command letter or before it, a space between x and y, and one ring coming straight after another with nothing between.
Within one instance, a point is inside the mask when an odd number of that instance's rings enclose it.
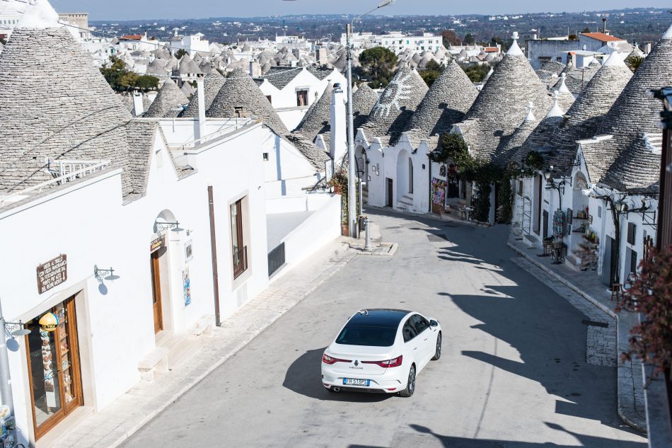
<instances>
[{"instance_id":1,"label":"pale stone curb edging the left-hand sidewalk","mask_svg":"<svg viewBox=\"0 0 672 448\"><path fill-rule=\"evenodd\" d=\"M347 252L346 252L346 253L347 253ZM260 335L263 331L265 331L266 328L272 326L272 324L275 323L279 318L281 318L287 311L289 311L290 309L294 308L294 306L296 306L296 305L298 305L299 303L301 303L301 301L303 301L303 299L305 299L306 297L308 297L308 295L310 295L311 293L313 293L313 292L315 291L315 289L318 289L318 287L322 286L327 280L329 280L331 277L333 277L337 272L339 272L342 268L344 268L345 265L347 265L350 261L352 261L352 259L353 259L355 256L357 256L356 253L349 253L349 254L347 254L347 256L344 257L344 263L342 263L340 266L337 266L337 268L335 268L334 270L330 271L330 272L328 273L328 275L326 275L320 282L318 282L317 284L313 285L313 287L311 287L311 289L308 289L308 290L307 290L307 291L306 291L306 292L305 292L305 293L304 293L304 294L303 294L303 295L296 301L296 303L292 304L291 306L289 306L289 308L284 309L283 311L279 311L279 313L277 314L277 316L275 316L274 318L272 318L272 320L267 321L264 325L260 326L259 329L258 329L258 331L257 331L257 333L255 333L255 334L253 334L253 335L250 335L249 338L246 338L245 340L243 340L243 342L241 342L240 344L238 344L238 345L236 346L236 348L233 348L233 349L230 350L228 353L226 353L226 355L224 355L224 356L221 357L218 361L216 361L214 364L212 364L210 367L208 367L208 368L205 370L205 372L203 372L202 374L200 374L198 377L195 377L189 384L187 384L187 386L183 387L183 389L180 389L180 391L178 391L177 394L175 394L175 395L173 395L172 397L170 397L170 399L169 399L166 403L164 403L162 406L159 406L158 408L155 408L155 409L151 410L149 413L146 413L146 415L144 416L144 418L141 418L141 420L139 420L139 421L137 422L136 425L133 425L129 430L127 430L126 432L124 432L120 437L117 438L117 440L115 440L115 441L112 442L111 444L108 444L106 448L117 448L117 447L120 446L120 444L122 444L123 442L126 442L126 440L128 440L132 435L134 435L136 432L138 432L138 430L140 430L141 427L144 427L144 425L146 425L146 424L149 423L151 420L153 420L153 418L156 417L156 415L162 413L163 410L166 410L166 408L168 408L168 406L170 406L170 405L172 405L173 403L175 403L175 401L178 401L178 399L179 399L181 396L183 396L183 395L186 394L188 391L190 391L190 389L192 389L194 386L196 386L197 384L199 384L199 382L201 382L205 377L207 377L209 374L211 374L212 372L214 372L214 370L217 369L219 366L221 366L221 364L224 364L224 362L226 362L226 360L228 360L228 359L229 359L230 357L232 357L233 355L236 355L237 352L239 352L240 350L242 350L243 348L245 348L245 345L248 345L248 344L249 344L250 342L252 342L255 338L257 338L257 336Z\"/></svg>"}]
</instances>

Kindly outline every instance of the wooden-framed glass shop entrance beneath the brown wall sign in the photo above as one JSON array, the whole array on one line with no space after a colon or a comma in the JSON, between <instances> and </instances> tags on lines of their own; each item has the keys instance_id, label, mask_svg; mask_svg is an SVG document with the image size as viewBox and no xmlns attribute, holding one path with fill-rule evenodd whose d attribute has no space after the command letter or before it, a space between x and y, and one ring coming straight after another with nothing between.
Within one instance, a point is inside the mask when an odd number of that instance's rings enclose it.
<instances>
[{"instance_id":1,"label":"wooden-framed glass shop entrance beneath the brown wall sign","mask_svg":"<svg viewBox=\"0 0 672 448\"><path fill-rule=\"evenodd\" d=\"M83 405L74 296L47 313L55 328L40 326L44 314L25 324L35 440Z\"/></svg>"}]
</instances>

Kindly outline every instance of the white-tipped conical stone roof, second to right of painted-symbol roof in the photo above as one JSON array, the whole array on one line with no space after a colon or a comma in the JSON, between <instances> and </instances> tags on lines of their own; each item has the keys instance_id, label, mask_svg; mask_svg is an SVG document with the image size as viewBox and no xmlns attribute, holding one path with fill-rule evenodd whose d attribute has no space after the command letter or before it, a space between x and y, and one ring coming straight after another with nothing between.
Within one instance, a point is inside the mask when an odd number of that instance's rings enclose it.
<instances>
[{"instance_id":1,"label":"white-tipped conical stone roof, second to right of painted-symbol roof","mask_svg":"<svg viewBox=\"0 0 672 448\"><path fill-rule=\"evenodd\" d=\"M470 150L489 160L502 142L528 114L528 102L545 114L553 105L545 86L535 74L517 42L504 55L468 111L466 119L478 120L478 138Z\"/></svg>"}]
</instances>

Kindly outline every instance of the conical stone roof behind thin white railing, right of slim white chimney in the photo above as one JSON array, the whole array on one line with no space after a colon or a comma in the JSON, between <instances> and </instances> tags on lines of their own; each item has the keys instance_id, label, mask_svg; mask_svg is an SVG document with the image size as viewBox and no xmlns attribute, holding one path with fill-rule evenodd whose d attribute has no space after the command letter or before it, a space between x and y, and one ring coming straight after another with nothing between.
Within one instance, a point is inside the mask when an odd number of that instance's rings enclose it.
<instances>
[{"instance_id":1,"label":"conical stone roof behind thin white railing, right of slim white chimney","mask_svg":"<svg viewBox=\"0 0 672 448\"><path fill-rule=\"evenodd\" d=\"M268 102L268 98L250 75L240 68L233 70L228 76L226 83L212 101L207 116L238 117L236 108L241 108L243 116L255 115L262 118L265 124L278 135L288 132L271 103Z\"/></svg>"}]
</instances>

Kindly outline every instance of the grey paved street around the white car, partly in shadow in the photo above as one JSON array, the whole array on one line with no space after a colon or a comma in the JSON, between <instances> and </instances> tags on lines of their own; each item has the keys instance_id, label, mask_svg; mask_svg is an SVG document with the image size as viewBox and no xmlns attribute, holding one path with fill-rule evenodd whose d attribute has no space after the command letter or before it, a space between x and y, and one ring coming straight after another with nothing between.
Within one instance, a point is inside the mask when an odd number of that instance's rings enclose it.
<instances>
[{"instance_id":1,"label":"grey paved street around the white car, partly in shadow","mask_svg":"<svg viewBox=\"0 0 672 448\"><path fill-rule=\"evenodd\" d=\"M359 256L124 447L645 447L586 316L513 263L508 229L370 213L393 257ZM320 357L364 307L438 318L444 353L412 398L330 394Z\"/></svg>"}]
</instances>

